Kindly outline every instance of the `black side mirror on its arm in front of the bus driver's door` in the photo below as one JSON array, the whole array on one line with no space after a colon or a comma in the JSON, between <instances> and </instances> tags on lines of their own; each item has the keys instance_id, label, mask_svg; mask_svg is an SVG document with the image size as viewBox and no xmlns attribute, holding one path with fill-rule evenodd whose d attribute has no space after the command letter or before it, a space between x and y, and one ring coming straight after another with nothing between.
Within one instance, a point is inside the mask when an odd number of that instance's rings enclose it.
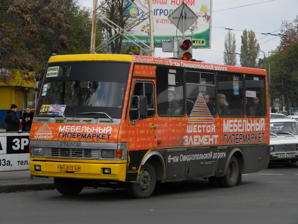
<instances>
[{"instance_id":1,"label":"black side mirror on its arm in front of the bus driver's door","mask_svg":"<svg viewBox=\"0 0 298 224\"><path fill-rule=\"evenodd\" d=\"M147 117L147 96L132 96L129 118L131 123Z\"/></svg>"}]
</instances>

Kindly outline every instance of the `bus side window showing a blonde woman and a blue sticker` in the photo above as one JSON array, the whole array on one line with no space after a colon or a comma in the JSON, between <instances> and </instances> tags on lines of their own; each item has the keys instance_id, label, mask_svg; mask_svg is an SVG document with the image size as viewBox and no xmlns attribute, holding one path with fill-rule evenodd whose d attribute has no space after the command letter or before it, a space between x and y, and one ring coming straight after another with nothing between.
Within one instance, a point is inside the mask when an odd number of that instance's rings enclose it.
<instances>
[{"instance_id":1,"label":"bus side window showing a blonde woman and a blue sticker","mask_svg":"<svg viewBox=\"0 0 298 224\"><path fill-rule=\"evenodd\" d=\"M218 73L217 85L219 116L243 117L243 75Z\"/></svg>"}]
</instances>

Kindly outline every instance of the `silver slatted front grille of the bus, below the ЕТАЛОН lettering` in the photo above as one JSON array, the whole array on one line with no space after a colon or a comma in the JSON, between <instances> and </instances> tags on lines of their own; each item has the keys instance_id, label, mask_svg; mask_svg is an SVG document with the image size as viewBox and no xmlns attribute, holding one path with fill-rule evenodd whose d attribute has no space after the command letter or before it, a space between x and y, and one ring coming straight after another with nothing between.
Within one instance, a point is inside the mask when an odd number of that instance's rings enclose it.
<instances>
[{"instance_id":1,"label":"silver slatted front grille of the bus, below the \u0415\u0422\u0410\u041b\u041e\u041d lettering","mask_svg":"<svg viewBox=\"0 0 298 224\"><path fill-rule=\"evenodd\" d=\"M46 148L46 157L72 159L98 159L98 149Z\"/></svg>"}]
</instances>

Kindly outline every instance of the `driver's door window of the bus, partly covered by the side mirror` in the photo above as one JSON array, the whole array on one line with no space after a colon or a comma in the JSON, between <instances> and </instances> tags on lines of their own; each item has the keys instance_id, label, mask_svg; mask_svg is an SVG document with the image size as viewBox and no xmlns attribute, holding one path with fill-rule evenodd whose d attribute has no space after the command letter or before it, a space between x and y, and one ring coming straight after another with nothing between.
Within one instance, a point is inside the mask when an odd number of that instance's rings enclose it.
<instances>
[{"instance_id":1,"label":"driver's door window of the bus, partly covered by the side mirror","mask_svg":"<svg viewBox=\"0 0 298 224\"><path fill-rule=\"evenodd\" d=\"M155 115L155 100L154 100L154 85L153 82L140 82L134 84L133 96L146 96L147 97L147 117ZM137 101L134 97L131 101L130 117L136 117Z\"/></svg>"}]
</instances>

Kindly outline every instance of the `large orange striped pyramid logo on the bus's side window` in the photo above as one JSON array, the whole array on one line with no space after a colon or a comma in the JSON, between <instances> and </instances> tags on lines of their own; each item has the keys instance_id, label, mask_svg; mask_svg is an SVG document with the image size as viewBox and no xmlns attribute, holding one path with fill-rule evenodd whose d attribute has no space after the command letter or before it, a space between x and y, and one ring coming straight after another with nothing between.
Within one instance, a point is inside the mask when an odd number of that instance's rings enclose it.
<instances>
[{"instance_id":1,"label":"large orange striped pyramid logo on the bus's side window","mask_svg":"<svg viewBox=\"0 0 298 224\"><path fill-rule=\"evenodd\" d=\"M190 113L189 122L214 122L213 116L211 115L207 104L203 98L202 93L200 92L193 107L193 110Z\"/></svg>"}]
</instances>

